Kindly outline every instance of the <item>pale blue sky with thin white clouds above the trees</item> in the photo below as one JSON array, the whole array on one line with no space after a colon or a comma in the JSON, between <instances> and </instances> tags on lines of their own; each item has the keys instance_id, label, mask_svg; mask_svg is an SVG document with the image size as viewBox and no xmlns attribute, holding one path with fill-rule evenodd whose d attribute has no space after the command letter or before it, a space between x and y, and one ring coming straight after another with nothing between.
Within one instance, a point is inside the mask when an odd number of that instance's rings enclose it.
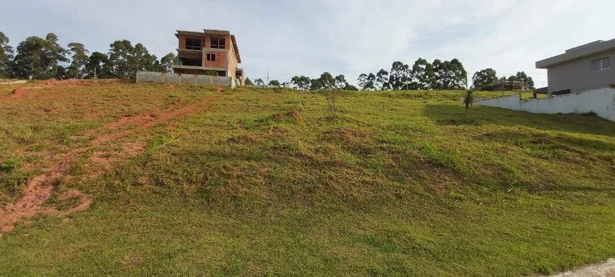
<instances>
[{"instance_id":1,"label":"pale blue sky with thin white clouds above the trees","mask_svg":"<svg viewBox=\"0 0 615 277\"><path fill-rule=\"evenodd\" d=\"M162 57L175 30L230 30L250 78L317 77L390 69L418 57L462 61L469 75L526 71L546 86L534 62L615 37L613 0L2 0L0 31L15 47L56 33L107 52L114 40L143 43Z\"/></svg>"}]
</instances>

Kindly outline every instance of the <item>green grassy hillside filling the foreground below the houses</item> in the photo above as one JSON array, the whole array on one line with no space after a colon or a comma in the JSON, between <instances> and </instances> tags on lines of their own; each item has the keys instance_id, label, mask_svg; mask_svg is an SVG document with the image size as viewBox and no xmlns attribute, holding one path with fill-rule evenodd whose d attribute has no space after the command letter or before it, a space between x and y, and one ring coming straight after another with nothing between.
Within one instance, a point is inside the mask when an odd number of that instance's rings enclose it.
<instances>
[{"instance_id":1,"label":"green grassy hillside filling the foreground below the houses","mask_svg":"<svg viewBox=\"0 0 615 277\"><path fill-rule=\"evenodd\" d=\"M0 201L59 177L2 233L3 276L515 276L615 256L615 123L596 117L464 114L448 91L343 92L333 118L291 90L21 87L0 86ZM66 213L67 191L93 202Z\"/></svg>"}]
</instances>

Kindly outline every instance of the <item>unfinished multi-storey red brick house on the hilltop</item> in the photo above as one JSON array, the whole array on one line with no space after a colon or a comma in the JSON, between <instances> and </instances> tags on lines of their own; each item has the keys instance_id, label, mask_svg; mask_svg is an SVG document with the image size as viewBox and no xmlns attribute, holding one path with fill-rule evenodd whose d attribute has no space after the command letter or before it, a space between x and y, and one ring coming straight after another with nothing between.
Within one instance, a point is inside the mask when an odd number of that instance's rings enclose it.
<instances>
[{"instance_id":1,"label":"unfinished multi-storey red brick house on the hilltop","mask_svg":"<svg viewBox=\"0 0 615 277\"><path fill-rule=\"evenodd\" d=\"M235 35L226 30L204 29L203 32L177 30L175 36L179 40L180 61L173 66L175 73L226 76L233 80L232 86L245 85Z\"/></svg>"}]
</instances>

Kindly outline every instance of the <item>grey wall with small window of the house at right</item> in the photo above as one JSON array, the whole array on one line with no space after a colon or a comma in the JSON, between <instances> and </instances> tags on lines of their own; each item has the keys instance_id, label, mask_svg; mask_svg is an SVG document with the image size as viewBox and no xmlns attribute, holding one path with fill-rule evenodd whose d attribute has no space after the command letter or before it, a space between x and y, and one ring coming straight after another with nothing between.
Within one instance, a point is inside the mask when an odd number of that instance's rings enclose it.
<instances>
[{"instance_id":1,"label":"grey wall with small window of the house at right","mask_svg":"<svg viewBox=\"0 0 615 277\"><path fill-rule=\"evenodd\" d=\"M615 49L549 66L549 95L562 90L578 93L615 84Z\"/></svg>"}]
</instances>

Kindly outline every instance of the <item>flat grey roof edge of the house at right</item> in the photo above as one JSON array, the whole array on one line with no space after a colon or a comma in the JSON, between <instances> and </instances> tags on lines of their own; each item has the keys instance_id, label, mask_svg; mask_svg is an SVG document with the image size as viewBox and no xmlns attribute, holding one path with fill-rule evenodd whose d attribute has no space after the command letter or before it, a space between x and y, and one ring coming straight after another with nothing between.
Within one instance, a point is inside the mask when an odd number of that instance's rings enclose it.
<instances>
[{"instance_id":1,"label":"flat grey roof edge of the house at right","mask_svg":"<svg viewBox=\"0 0 615 277\"><path fill-rule=\"evenodd\" d=\"M547 69L556 64L563 64L567 61L573 61L575 59L581 59L593 54L607 52L611 49L615 49L615 39L607 41L597 40L595 42L587 43L586 45L568 49L564 54L559 54L555 57L550 57L549 59L537 61L536 68Z\"/></svg>"}]
</instances>

